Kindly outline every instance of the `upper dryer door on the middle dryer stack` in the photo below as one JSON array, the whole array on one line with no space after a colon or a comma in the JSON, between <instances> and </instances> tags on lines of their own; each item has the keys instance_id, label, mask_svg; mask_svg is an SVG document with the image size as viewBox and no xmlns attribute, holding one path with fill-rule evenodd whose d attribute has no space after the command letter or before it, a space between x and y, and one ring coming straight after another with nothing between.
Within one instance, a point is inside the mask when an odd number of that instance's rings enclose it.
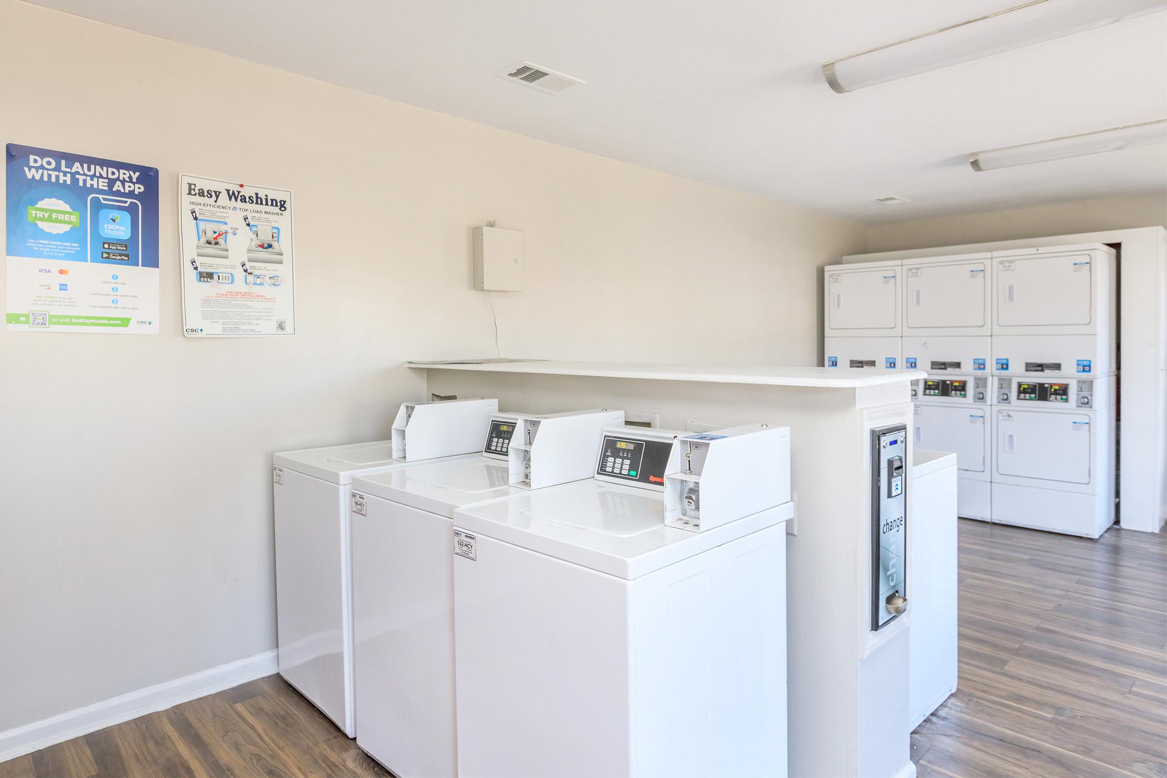
<instances>
[{"instance_id":1,"label":"upper dryer door on the middle dryer stack","mask_svg":"<svg viewBox=\"0 0 1167 778\"><path fill-rule=\"evenodd\" d=\"M906 266L904 327L909 330L986 327L986 269L985 261Z\"/></svg>"}]
</instances>

